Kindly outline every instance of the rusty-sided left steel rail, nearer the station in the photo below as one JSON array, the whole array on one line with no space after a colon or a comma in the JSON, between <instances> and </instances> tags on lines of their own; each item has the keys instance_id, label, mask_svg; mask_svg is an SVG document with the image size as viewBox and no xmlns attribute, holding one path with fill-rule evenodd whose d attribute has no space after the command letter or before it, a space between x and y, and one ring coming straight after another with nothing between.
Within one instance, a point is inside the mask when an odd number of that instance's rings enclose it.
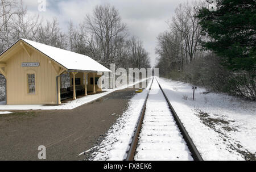
<instances>
[{"instance_id":1,"label":"rusty-sided left steel rail, nearer the station","mask_svg":"<svg viewBox=\"0 0 256 172\"><path fill-rule=\"evenodd\" d=\"M144 118L144 115L145 115L145 111L146 111L147 99L148 99L148 95L150 93L153 81L154 81L154 77L152 78L152 82L151 82L150 88L148 89L147 97L146 97L146 100L145 100L145 102L143 104L143 107L142 107L142 110L141 110L141 114L139 115L139 119L137 121L136 127L134 129L132 141L131 141L131 144L129 144L130 148L126 152L127 153L127 157L125 158L124 161L133 161L134 160L134 155L135 155L135 151L136 151L137 144L138 144L139 132L141 131L141 125L142 125L142 121L143 121L143 118Z\"/></svg>"}]
</instances>

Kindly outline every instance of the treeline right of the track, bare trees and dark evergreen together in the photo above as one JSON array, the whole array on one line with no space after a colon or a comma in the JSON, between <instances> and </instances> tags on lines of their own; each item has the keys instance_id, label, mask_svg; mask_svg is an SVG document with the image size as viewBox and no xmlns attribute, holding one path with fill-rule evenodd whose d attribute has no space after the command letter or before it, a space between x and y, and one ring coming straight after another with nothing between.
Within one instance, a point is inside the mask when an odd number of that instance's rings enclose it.
<instances>
[{"instance_id":1,"label":"treeline right of the track, bare trees and dark evergreen together","mask_svg":"<svg viewBox=\"0 0 256 172\"><path fill-rule=\"evenodd\" d=\"M197 1L177 6L158 36L159 74L210 91L256 100L255 1Z\"/></svg>"}]
</instances>

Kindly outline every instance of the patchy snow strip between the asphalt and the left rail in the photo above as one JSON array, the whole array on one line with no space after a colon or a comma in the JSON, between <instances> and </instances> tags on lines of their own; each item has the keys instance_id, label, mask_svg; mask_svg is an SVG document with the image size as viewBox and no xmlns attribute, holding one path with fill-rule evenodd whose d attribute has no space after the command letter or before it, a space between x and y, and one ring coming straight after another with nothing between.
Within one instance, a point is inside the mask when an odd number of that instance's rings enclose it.
<instances>
[{"instance_id":1,"label":"patchy snow strip between the asphalt and the left rail","mask_svg":"<svg viewBox=\"0 0 256 172\"><path fill-rule=\"evenodd\" d=\"M131 98L129 107L117 120L117 123L109 129L101 144L85 152L92 152L90 160L123 160L126 157L126 150L141 114L150 84L151 81L148 82L147 88L142 93L138 93Z\"/></svg>"}]
</instances>

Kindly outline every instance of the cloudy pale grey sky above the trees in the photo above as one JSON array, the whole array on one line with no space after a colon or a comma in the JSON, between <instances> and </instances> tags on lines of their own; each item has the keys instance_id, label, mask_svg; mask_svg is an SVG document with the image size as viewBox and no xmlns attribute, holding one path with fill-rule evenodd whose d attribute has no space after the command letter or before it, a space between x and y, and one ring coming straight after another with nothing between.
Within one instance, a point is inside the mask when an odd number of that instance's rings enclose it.
<instances>
[{"instance_id":1,"label":"cloudy pale grey sky above the trees","mask_svg":"<svg viewBox=\"0 0 256 172\"><path fill-rule=\"evenodd\" d=\"M44 20L51 20L55 16L63 31L67 31L70 20L78 24L86 14L92 14L96 5L110 3L118 9L130 35L142 39L144 48L150 53L153 66L156 58L156 37L167 29L166 22L171 19L175 7L187 0L46 0L46 12L38 11L39 1L23 2L29 13L39 13Z\"/></svg>"}]
</instances>

